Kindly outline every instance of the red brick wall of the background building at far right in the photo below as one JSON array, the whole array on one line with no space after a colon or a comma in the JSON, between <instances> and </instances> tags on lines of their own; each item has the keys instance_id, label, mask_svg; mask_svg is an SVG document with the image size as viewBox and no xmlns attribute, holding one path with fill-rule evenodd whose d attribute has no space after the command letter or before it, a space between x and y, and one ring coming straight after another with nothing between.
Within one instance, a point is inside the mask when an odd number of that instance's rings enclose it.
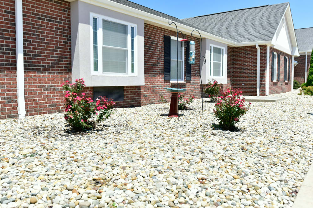
<instances>
[{"instance_id":1,"label":"red brick wall of the background building at far right","mask_svg":"<svg viewBox=\"0 0 313 208\"><path fill-rule=\"evenodd\" d=\"M307 63L306 78L309 75L310 59L311 59L311 54L308 53L307 62L306 62ZM304 83L305 82L305 55L295 57L295 60L298 61L298 64L294 68L294 79L300 83Z\"/></svg>"}]
</instances>

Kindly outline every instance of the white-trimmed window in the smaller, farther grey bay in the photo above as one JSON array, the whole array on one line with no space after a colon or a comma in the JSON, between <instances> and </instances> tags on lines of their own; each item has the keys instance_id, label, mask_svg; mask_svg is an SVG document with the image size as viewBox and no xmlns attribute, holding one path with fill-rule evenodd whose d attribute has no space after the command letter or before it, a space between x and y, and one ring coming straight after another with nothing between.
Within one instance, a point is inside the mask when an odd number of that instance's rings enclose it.
<instances>
[{"instance_id":1,"label":"white-trimmed window in the smaller, farther grey bay","mask_svg":"<svg viewBox=\"0 0 313 208\"><path fill-rule=\"evenodd\" d=\"M210 45L210 76L224 76L224 51L223 47Z\"/></svg>"}]
</instances>

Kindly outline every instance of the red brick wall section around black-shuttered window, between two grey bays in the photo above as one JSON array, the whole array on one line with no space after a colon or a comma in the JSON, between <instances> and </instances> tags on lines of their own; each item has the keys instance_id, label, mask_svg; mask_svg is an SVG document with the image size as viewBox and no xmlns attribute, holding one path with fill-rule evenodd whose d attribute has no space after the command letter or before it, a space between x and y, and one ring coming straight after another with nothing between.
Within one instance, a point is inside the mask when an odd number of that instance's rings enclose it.
<instances>
[{"instance_id":1,"label":"red brick wall section around black-shuttered window, between two grey bays","mask_svg":"<svg viewBox=\"0 0 313 208\"><path fill-rule=\"evenodd\" d=\"M141 88L141 105L161 103L160 96L164 95L170 101L171 94L167 93L164 87L177 87L177 83L164 81L164 35L176 36L176 31L170 31L145 23L145 85ZM179 37L182 37L181 34ZM200 40L186 35L186 39L195 41L196 63L192 65L191 81L186 81L186 60L185 60L185 82L179 83L179 88L187 89L186 98L192 95L195 98L201 97L201 85L199 77L199 51ZM186 48L185 48L186 58ZM202 61L202 60L201 60ZM206 84L206 83L203 83Z\"/></svg>"}]
</instances>

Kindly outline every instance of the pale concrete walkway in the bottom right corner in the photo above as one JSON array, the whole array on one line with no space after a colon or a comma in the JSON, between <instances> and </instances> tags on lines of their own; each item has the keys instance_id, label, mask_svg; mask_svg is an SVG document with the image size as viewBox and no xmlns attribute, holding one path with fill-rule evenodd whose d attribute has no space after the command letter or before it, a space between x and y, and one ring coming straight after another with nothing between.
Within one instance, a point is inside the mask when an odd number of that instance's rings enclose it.
<instances>
[{"instance_id":1,"label":"pale concrete walkway in the bottom right corner","mask_svg":"<svg viewBox=\"0 0 313 208\"><path fill-rule=\"evenodd\" d=\"M292 208L313 207L313 165L306 174Z\"/></svg>"}]
</instances>

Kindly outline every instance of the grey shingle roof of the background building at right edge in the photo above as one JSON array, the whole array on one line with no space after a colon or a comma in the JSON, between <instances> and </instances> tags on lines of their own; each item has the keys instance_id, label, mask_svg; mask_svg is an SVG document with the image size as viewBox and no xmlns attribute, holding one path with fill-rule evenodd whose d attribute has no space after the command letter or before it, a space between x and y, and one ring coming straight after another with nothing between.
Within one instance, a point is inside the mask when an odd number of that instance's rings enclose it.
<instances>
[{"instance_id":1,"label":"grey shingle roof of the background building at right edge","mask_svg":"<svg viewBox=\"0 0 313 208\"><path fill-rule=\"evenodd\" d=\"M313 27L295 29L299 51L312 51L313 48Z\"/></svg>"}]
</instances>

